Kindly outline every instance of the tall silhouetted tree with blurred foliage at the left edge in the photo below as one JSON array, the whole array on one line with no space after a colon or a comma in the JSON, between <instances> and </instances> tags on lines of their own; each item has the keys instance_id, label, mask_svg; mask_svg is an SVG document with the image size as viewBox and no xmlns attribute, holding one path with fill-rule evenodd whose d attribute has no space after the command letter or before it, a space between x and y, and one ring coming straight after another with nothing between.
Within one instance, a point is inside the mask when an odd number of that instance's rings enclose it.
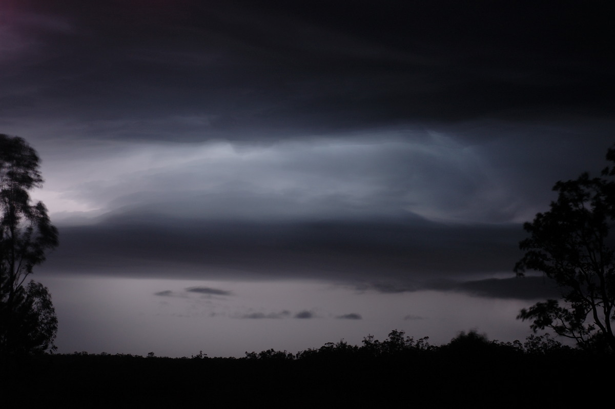
<instances>
[{"instance_id":1,"label":"tall silhouetted tree with blurred foliage at the left edge","mask_svg":"<svg viewBox=\"0 0 615 409\"><path fill-rule=\"evenodd\" d=\"M47 208L32 204L42 186L39 157L25 140L0 134L0 353L53 347L57 318L49 290L25 280L58 245Z\"/></svg>"}]
</instances>

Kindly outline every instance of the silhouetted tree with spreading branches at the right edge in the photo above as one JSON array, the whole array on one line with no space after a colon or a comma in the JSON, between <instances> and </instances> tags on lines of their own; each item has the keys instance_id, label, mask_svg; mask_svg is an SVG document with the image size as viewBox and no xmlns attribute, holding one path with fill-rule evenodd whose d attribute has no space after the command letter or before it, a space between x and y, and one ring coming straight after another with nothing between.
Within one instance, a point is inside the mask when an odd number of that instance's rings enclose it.
<instances>
[{"instance_id":1,"label":"silhouetted tree with spreading branches at the right edge","mask_svg":"<svg viewBox=\"0 0 615 409\"><path fill-rule=\"evenodd\" d=\"M615 162L615 146L606 159ZM602 345L615 351L615 242L609 231L615 221L615 167L601 177L582 173L558 181L557 200L523 228L530 234L515 265L517 276L528 269L543 272L557 284L561 300L546 300L522 309L518 319L531 328L551 328L580 347Z\"/></svg>"}]
</instances>

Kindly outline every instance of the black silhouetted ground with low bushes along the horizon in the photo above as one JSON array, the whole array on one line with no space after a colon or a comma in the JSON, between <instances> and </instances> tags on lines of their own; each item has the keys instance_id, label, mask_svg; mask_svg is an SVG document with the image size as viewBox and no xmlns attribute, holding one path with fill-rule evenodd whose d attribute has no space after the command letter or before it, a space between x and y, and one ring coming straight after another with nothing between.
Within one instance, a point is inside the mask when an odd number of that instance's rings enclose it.
<instances>
[{"instance_id":1,"label":"black silhouetted ground with low bushes along the horizon","mask_svg":"<svg viewBox=\"0 0 615 409\"><path fill-rule=\"evenodd\" d=\"M611 400L613 355L474 341L431 347L402 338L402 344L327 344L242 359L85 353L9 359L0 370L0 406L554 408Z\"/></svg>"}]
</instances>

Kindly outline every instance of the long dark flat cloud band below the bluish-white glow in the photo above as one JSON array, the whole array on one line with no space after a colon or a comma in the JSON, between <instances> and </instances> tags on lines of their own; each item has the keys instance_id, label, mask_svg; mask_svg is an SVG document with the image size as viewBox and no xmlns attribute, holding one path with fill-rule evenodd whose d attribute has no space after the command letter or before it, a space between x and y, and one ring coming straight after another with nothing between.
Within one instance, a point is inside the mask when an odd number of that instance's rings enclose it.
<instances>
[{"instance_id":1,"label":"long dark flat cloud band below the bluish-white glow","mask_svg":"<svg viewBox=\"0 0 615 409\"><path fill-rule=\"evenodd\" d=\"M184 279L344 280L382 292L429 280L510 271L520 257L518 224L421 219L244 223L149 217L61 228L47 271ZM114 255L109 258L108 254ZM363 283L363 284L358 284ZM368 283L368 284L364 284ZM194 287L190 292L229 295Z\"/></svg>"}]
</instances>

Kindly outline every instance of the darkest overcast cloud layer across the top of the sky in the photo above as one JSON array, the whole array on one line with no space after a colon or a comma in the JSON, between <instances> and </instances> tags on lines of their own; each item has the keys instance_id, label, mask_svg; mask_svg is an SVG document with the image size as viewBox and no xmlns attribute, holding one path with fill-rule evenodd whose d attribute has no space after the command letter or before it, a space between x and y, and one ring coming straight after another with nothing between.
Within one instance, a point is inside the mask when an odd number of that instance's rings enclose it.
<instances>
[{"instance_id":1,"label":"darkest overcast cloud layer across the top of the sky","mask_svg":"<svg viewBox=\"0 0 615 409\"><path fill-rule=\"evenodd\" d=\"M607 2L3 4L5 121L72 135L272 141L613 108Z\"/></svg>"}]
</instances>

